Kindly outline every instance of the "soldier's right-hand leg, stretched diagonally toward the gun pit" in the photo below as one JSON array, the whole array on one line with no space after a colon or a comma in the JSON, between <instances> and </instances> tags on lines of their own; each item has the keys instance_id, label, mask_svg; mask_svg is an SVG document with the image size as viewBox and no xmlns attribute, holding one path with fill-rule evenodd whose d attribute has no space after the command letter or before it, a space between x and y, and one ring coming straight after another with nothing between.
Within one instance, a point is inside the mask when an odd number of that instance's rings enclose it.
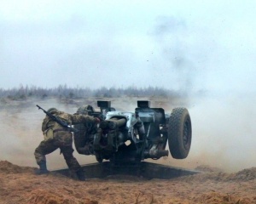
<instances>
[{"instance_id":1,"label":"soldier's right-hand leg, stretched diagonally toward the gun pit","mask_svg":"<svg viewBox=\"0 0 256 204\"><path fill-rule=\"evenodd\" d=\"M79 161L73 156L72 145L62 146L61 152L67 163L67 167L70 169L71 177L78 178L79 180L85 180L84 171L79 165Z\"/></svg>"}]
</instances>

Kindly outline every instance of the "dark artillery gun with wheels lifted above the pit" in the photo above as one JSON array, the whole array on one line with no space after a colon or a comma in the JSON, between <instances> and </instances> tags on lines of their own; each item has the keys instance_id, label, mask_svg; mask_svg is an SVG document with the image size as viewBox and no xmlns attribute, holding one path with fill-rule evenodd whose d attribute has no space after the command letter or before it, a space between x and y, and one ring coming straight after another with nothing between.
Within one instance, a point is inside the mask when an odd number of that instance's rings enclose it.
<instances>
[{"instance_id":1,"label":"dark artillery gun with wheels lifted above the pit","mask_svg":"<svg viewBox=\"0 0 256 204\"><path fill-rule=\"evenodd\" d=\"M134 112L116 111L111 101L97 101L100 111L81 106L77 113L102 119L98 127L75 125L75 148L81 155L95 155L96 161L115 165L160 159L169 151L175 159L189 155L192 126L186 108L174 108L166 114L163 108L151 108L150 101L138 100ZM166 144L169 150L166 150Z\"/></svg>"}]
</instances>

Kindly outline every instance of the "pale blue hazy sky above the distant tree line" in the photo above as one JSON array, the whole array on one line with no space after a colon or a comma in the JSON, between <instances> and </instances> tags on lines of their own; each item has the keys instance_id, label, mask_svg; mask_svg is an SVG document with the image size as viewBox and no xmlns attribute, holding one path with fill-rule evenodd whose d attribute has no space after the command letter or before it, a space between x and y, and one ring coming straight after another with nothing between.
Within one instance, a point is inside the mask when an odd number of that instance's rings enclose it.
<instances>
[{"instance_id":1,"label":"pale blue hazy sky above the distant tree line","mask_svg":"<svg viewBox=\"0 0 256 204\"><path fill-rule=\"evenodd\" d=\"M255 1L0 1L0 88L253 93Z\"/></svg>"}]
</instances>

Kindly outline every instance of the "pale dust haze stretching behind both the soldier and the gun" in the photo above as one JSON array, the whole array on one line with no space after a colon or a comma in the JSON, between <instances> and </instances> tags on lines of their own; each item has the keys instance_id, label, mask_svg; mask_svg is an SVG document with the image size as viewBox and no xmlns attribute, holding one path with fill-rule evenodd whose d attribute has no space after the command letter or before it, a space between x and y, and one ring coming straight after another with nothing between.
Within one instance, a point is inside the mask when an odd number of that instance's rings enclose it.
<instances>
[{"instance_id":1,"label":"pale dust haze stretching behind both the soldier and the gun","mask_svg":"<svg viewBox=\"0 0 256 204\"><path fill-rule=\"evenodd\" d=\"M253 97L252 97L253 98ZM194 97L190 99L149 99L152 107L163 107L170 114L174 107L187 107L192 120L192 145L188 158L175 160L169 155L158 162L176 167L195 168L200 165L218 167L227 172L256 167L256 109L252 98L241 97ZM109 100L109 99L108 99ZM119 111L134 111L137 98L111 99L112 106ZM60 101L59 99L7 101L1 104L0 160L20 166L37 167L33 156L35 148L43 139L41 124L45 110L55 107L74 113L80 105L94 105L96 99L82 101ZM73 147L74 148L74 147ZM167 147L166 147L167 148ZM94 156L74 156L80 164L96 162ZM47 156L49 170L67 167L59 150Z\"/></svg>"}]
</instances>

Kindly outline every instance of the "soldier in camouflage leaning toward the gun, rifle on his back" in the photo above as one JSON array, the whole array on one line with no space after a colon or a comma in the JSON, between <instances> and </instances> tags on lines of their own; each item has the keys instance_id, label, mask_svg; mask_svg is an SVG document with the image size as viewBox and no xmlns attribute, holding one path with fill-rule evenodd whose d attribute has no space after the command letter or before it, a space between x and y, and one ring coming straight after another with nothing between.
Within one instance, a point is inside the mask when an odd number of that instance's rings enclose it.
<instances>
[{"instance_id":1,"label":"soldier in camouflage leaning toward the gun, rifle on his back","mask_svg":"<svg viewBox=\"0 0 256 204\"><path fill-rule=\"evenodd\" d=\"M89 123L91 125L95 125L97 122L100 122L98 118L93 116L67 114L65 112L58 111L55 108L50 108L48 112L62 121L67 122L68 125L78 123ZM62 127L58 122L49 118L49 116L45 116L44 118L42 131L44 133L44 140L38 145L34 153L39 165L39 169L37 169L35 173L49 173L46 167L45 155L48 155L60 148L67 163L67 167L70 169L71 176L73 178L78 178L79 180L84 180L83 169L73 156L73 134L66 127Z\"/></svg>"}]
</instances>

